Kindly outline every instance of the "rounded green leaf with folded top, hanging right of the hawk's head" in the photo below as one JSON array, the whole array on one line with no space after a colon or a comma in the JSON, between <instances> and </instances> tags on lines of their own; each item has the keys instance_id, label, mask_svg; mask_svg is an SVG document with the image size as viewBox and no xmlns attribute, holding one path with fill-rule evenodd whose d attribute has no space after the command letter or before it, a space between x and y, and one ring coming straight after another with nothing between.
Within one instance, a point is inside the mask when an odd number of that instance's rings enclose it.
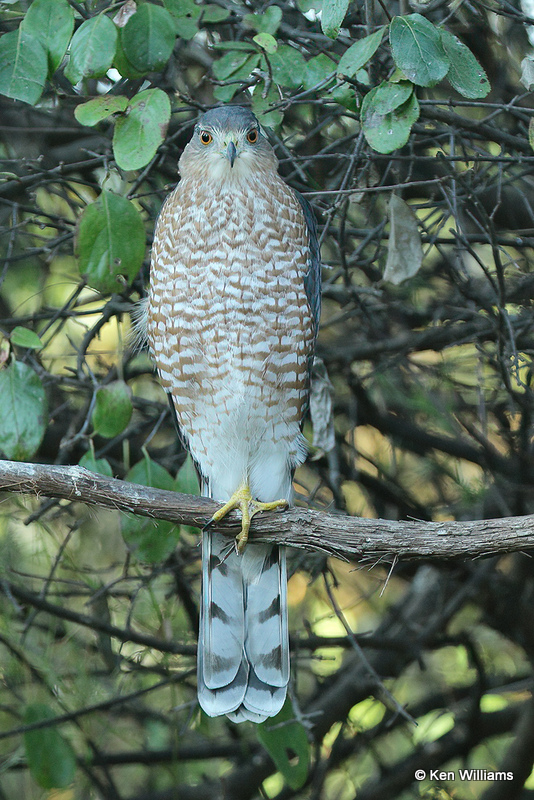
<instances>
[{"instance_id":1,"label":"rounded green leaf with folded top, hanging right of the hawk's head","mask_svg":"<svg viewBox=\"0 0 534 800\"><path fill-rule=\"evenodd\" d=\"M403 105L388 114L379 114L374 107L379 88L375 86L363 99L360 115L362 130L373 150L391 153L408 141L412 125L419 117L419 103L412 93Z\"/></svg>"}]
</instances>

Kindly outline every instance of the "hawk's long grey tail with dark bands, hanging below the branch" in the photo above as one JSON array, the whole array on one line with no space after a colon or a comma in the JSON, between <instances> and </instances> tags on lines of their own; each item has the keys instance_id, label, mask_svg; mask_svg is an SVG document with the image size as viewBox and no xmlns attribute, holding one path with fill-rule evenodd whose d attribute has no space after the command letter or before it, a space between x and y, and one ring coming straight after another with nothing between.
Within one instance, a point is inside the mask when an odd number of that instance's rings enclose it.
<instances>
[{"instance_id":1,"label":"hawk's long grey tail with dark bands, hanging below the branch","mask_svg":"<svg viewBox=\"0 0 534 800\"><path fill-rule=\"evenodd\" d=\"M202 537L198 698L209 716L263 722L289 681L285 552L249 545L238 555L217 533Z\"/></svg>"}]
</instances>

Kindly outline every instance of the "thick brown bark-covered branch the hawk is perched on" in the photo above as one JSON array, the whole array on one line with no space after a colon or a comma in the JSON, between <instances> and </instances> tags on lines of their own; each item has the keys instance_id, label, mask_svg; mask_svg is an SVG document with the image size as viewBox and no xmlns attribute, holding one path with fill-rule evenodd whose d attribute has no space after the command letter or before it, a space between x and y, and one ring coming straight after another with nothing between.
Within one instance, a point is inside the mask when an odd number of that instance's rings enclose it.
<instances>
[{"instance_id":1,"label":"thick brown bark-covered branch the hawk is perched on","mask_svg":"<svg viewBox=\"0 0 534 800\"><path fill-rule=\"evenodd\" d=\"M88 472L0 461L0 490L44 495L202 527L219 507L202 497L150 489ZM216 530L235 536L239 515ZM292 508L254 517L251 539L343 559L451 559L534 548L534 515L473 522L395 522Z\"/></svg>"}]
</instances>

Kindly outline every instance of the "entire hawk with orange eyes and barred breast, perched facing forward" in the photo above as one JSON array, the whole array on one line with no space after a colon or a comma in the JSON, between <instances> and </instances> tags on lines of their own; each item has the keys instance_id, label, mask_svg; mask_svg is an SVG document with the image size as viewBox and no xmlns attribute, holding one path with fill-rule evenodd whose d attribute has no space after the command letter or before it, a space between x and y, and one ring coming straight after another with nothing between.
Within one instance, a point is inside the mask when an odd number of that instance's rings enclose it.
<instances>
[{"instance_id":1,"label":"entire hawk with orange eyes and barred breast, perched facing forward","mask_svg":"<svg viewBox=\"0 0 534 800\"><path fill-rule=\"evenodd\" d=\"M152 250L148 336L202 493L242 513L235 547L202 535L198 697L262 722L289 680L286 558L245 547L250 517L291 502L320 311L307 202L246 108L205 113L179 162ZM281 498L284 498L283 500Z\"/></svg>"}]
</instances>

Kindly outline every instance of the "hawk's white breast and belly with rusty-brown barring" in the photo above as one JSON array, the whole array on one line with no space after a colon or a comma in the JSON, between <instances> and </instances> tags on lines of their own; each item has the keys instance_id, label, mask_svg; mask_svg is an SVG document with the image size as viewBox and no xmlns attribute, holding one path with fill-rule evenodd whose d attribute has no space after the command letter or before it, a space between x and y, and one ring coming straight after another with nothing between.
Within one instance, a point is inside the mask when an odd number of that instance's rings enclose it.
<instances>
[{"instance_id":1,"label":"hawk's white breast and belly with rusty-brown barring","mask_svg":"<svg viewBox=\"0 0 534 800\"><path fill-rule=\"evenodd\" d=\"M303 213L278 175L239 191L196 184L180 182L156 228L150 347L212 496L227 499L247 478L258 499L276 499L305 455L313 324ZM285 475L284 486L269 474Z\"/></svg>"}]
</instances>

